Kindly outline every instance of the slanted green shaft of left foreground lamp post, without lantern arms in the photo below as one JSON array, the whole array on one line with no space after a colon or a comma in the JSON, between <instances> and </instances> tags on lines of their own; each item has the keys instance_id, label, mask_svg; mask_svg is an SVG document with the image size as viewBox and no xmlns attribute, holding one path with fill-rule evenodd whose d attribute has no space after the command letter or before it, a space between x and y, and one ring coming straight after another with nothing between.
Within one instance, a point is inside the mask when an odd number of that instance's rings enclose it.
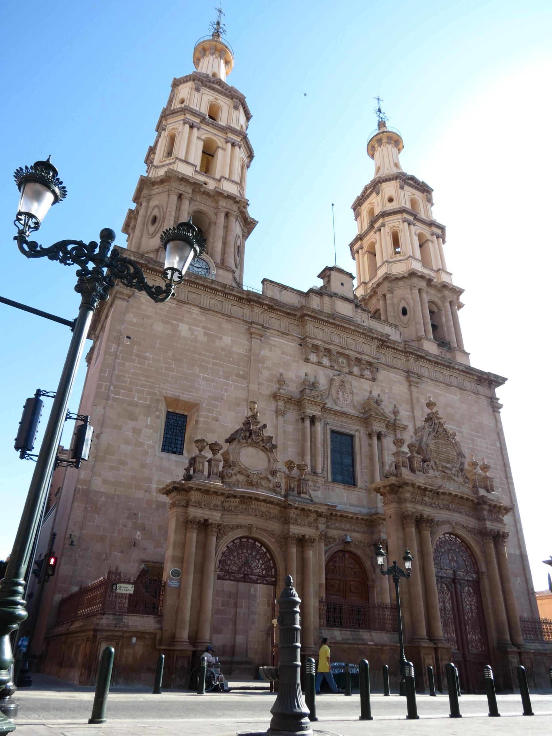
<instances>
[{"instance_id":1,"label":"slanted green shaft of left foreground lamp post, without lantern arms","mask_svg":"<svg viewBox=\"0 0 552 736\"><path fill-rule=\"evenodd\" d=\"M77 316L75 322L66 362L61 372L60 383L57 386L52 411L38 453L35 472L32 474L6 576L0 581L0 690L10 682L10 666L13 656L10 632L16 629L21 621L24 621L27 617L23 595L26 568L29 565L44 501L46 495L48 495L50 478L54 470L57 448L60 446L71 390L73 389L82 350L85 347L86 336L88 335L88 328L96 305L97 298L91 298L91 294L82 294L79 316ZM15 692L15 688L13 692ZM10 693L11 695L13 693ZM9 725L4 721L7 721L7 719L2 715L0 718L0 734L2 729Z\"/></svg>"}]
</instances>

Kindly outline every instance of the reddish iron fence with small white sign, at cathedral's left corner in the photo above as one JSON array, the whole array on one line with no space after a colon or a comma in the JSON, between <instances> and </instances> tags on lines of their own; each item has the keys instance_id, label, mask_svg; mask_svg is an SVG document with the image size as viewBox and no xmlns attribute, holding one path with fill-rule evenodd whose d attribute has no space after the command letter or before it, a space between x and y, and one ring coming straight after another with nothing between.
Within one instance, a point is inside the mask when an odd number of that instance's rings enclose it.
<instances>
[{"instance_id":1,"label":"reddish iron fence with small white sign, at cathedral's left corner","mask_svg":"<svg viewBox=\"0 0 552 736\"><path fill-rule=\"evenodd\" d=\"M117 584L134 586L132 593L117 592ZM96 613L133 613L141 616L160 616L163 608L162 580L138 576L130 578L120 570L109 570L107 575L90 585L80 587L60 601L56 623L66 623Z\"/></svg>"}]
</instances>

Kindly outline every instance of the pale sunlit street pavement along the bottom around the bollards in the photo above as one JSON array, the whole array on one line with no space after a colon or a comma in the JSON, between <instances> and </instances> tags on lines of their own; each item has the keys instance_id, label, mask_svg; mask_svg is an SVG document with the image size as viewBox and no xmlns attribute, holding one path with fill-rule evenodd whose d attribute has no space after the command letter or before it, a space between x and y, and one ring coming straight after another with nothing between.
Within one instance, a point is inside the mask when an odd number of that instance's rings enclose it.
<instances>
[{"instance_id":1,"label":"pale sunlit street pavement along the bottom around the bollards","mask_svg":"<svg viewBox=\"0 0 552 736\"><path fill-rule=\"evenodd\" d=\"M107 723L89 725L93 688L80 687L54 677L33 675L33 687L18 690L15 719L21 736L236 736L266 732L275 693L267 683L232 682L230 693L198 696L183 690L153 695L145 687L116 687L107 698ZM247 689L237 689L244 687ZM252 687L260 689L251 689ZM446 695L417 696L419 721L406 720L406 698L372 695L373 721L359 721L360 696L343 694L316 698L315 736L518 736L520 729L533 735L552 734L552 695L531 695L534 716L523 717L519 695L497 696L501 718L489 718L485 696L463 695L462 718L448 717Z\"/></svg>"}]
</instances>

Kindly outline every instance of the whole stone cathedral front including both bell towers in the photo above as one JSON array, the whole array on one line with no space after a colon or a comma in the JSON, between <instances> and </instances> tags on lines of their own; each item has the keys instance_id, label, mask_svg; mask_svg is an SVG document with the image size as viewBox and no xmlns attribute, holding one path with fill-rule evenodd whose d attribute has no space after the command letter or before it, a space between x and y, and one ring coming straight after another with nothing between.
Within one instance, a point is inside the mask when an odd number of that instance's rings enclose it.
<instances>
[{"instance_id":1,"label":"whole stone cathedral front including both bell towers","mask_svg":"<svg viewBox=\"0 0 552 736\"><path fill-rule=\"evenodd\" d=\"M191 217L206 250L166 304L117 286L94 317L79 414L95 435L52 496L62 546L34 642L43 670L91 683L110 644L118 682L149 682L162 652L166 687L187 687L210 643L224 673L254 676L277 663L275 599L291 574L303 654L327 636L333 660L369 659L376 685L388 664L396 680L381 544L386 564L414 557L400 595L420 690L428 665L444 687L449 661L468 692L487 662L503 689L520 662L545 682L545 647L520 623L537 607L495 394L505 379L470 366L445 227L401 167L403 138L381 118L368 141L356 286L331 266L306 292L244 289L251 113L218 26L193 63L173 79L123 230L152 281L167 227Z\"/></svg>"}]
</instances>

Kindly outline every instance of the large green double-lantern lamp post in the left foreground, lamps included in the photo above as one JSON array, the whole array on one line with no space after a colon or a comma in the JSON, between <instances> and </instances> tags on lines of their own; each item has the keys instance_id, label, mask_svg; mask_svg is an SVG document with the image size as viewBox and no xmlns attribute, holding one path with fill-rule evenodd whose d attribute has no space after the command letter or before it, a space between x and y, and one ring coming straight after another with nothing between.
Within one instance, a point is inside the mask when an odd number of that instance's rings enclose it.
<instances>
[{"instance_id":1,"label":"large green double-lantern lamp post in the left foreground, lamps included","mask_svg":"<svg viewBox=\"0 0 552 736\"><path fill-rule=\"evenodd\" d=\"M69 397L92 316L99 302L109 298L117 281L130 289L144 291L154 302L166 302L174 295L175 286L182 283L183 274L192 259L205 250L205 241L199 236L197 227L191 224L191 219L164 230L160 241L166 251L166 258L164 285L160 286L146 281L138 263L121 255L116 248L111 249L115 233L109 228L99 234L99 244L95 241L86 244L78 240L62 240L52 246L43 247L35 241L29 241L29 235L39 229L49 208L66 198L66 188L57 177L57 169L50 158L37 161L25 169L18 169L14 177L21 193L14 222L18 228L14 237L18 249L26 258L46 257L50 261L59 261L63 266L78 266L75 291L81 295L81 302L6 576L0 581L0 711L3 711L0 712L0 735L15 728L13 722L4 715L4 712L9 715L17 712L16 705L11 701L15 686L10 682L10 633L27 616L23 597L25 572L32 554L32 541L40 523L40 512L48 493Z\"/></svg>"}]
</instances>

